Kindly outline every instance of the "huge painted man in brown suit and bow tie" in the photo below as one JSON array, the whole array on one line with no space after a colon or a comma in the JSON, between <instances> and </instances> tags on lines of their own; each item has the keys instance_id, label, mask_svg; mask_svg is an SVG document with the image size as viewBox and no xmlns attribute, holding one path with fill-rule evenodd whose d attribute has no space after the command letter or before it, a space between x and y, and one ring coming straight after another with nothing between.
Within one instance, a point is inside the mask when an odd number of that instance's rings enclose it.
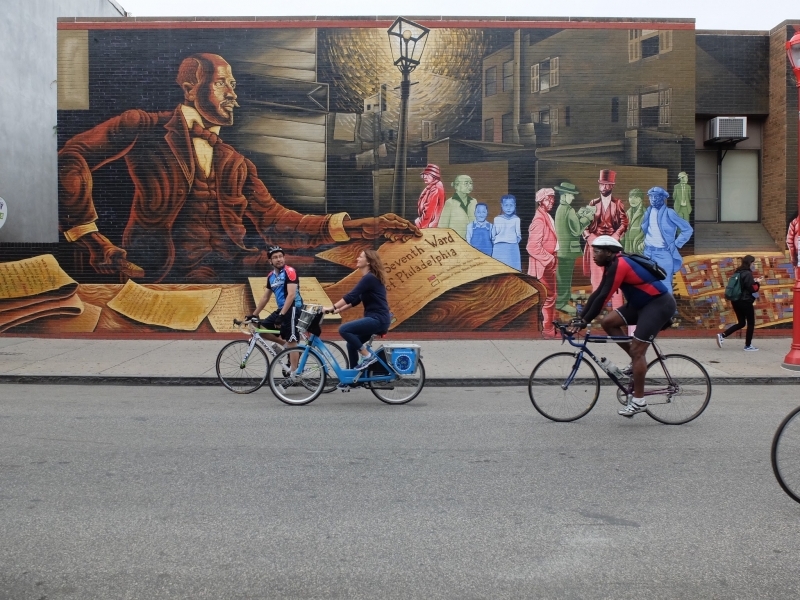
<instances>
[{"instance_id":1,"label":"huge painted man in brown suit and bow tie","mask_svg":"<svg viewBox=\"0 0 800 600\"><path fill-rule=\"evenodd\" d=\"M255 165L223 142L238 106L231 66L216 54L183 60L184 101L171 112L128 110L70 139L59 152L59 228L99 273L146 281L216 282L262 272L264 250L245 245L246 225L265 245L307 248L350 239L421 235L393 214L350 219L281 206ZM134 184L122 248L97 227L92 173L124 159ZM147 273L136 263L146 264Z\"/></svg>"}]
</instances>

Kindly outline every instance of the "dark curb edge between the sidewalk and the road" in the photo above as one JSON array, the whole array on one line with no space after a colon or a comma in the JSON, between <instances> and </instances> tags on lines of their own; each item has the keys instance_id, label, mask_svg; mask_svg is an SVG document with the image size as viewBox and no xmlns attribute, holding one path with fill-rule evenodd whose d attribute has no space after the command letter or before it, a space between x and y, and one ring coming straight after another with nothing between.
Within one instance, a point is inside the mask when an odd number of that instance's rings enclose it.
<instances>
[{"instance_id":1,"label":"dark curb edge between the sidewalk and the road","mask_svg":"<svg viewBox=\"0 0 800 600\"><path fill-rule=\"evenodd\" d=\"M0 384L38 385L153 385L153 386L220 386L216 377L104 377L101 375L0 375ZM712 385L800 385L800 377L715 377ZM527 377L430 378L427 387L527 387ZM607 378L602 386L614 386ZM265 386L268 388L268 386Z\"/></svg>"}]
</instances>

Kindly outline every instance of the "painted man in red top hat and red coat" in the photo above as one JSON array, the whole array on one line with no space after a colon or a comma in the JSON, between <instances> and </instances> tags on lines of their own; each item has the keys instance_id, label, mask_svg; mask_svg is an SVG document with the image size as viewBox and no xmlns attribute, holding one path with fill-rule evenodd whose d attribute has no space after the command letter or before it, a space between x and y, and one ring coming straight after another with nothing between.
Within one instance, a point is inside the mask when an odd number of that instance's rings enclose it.
<instances>
[{"instance_id":1,"label":"painted man in red top hat and red coat","mask_svg":"<svg viewBox=\"0 0 800 600\"><path fill-rule=\"evenodd\" d=\"M592 242L601 235L610 235L619 241L622 234L628 229L628 215L625 214L625 205L622 200L614 198L611 193L614 191L617 174L615 171L603 169L597 180L600 189L600 197L589 202L589 206L594 207L594 219L583 232L586 238L586 248L583 253L583 274L589 275L592 281L592 290L596 290L603 279L603 267L595 264L592 260ZM619 308L622 306L623 298L619 292L611 297L611 306Z\"/></svg>"}]
</instances>

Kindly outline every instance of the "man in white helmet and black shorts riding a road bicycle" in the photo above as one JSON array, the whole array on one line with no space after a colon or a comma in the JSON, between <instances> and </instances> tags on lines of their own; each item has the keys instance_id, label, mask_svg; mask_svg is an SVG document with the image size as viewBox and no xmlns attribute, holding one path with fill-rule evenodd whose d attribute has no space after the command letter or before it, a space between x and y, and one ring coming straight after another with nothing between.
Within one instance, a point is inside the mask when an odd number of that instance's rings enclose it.
<instances>
[{"instance_id":1,"label":"man in white helmet and black shorts riding a road bicycle","mask_svg":"<svg viewBox=\"0 0 800 600\"><path fill-rule=\"evenodd\" d=\"M625 328L636 325L633 339L619 343L619 347L631 357L633 372L633 396L628 397L627 406L619 414L630 418L647 409L644 399L644 378L647 372L645 354L658 332L665 328L675 314L675 298L667 289L671 282L659 280L643 266L625 255L620 255L622 245L610 235L597 237L592 242L592 251L594 263L603 267L603 278L586 301L580 317L570 323L568 331L577 333L586 327L600 314L611 295L617 290L622 291L626 304L606 314L601 325L612 336L627 336Z\"/></svg>"}]
</instances>

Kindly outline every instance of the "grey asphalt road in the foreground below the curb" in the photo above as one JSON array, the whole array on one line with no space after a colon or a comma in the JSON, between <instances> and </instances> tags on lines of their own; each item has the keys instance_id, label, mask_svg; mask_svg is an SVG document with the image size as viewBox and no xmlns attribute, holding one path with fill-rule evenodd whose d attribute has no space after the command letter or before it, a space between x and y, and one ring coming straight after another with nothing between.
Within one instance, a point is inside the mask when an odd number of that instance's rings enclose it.
<instances>
[{"instance_id":1,"label":"grey asphalt road in the foreground below the curb","mask_svg":"<svg viewBox=\"0 0 800 600\"><path fill-rule=\"evenodd\" d=\"M797 598L792 386L571 424L524 388L0 386L0 598Z\"/></svg>"}]
</instances>

